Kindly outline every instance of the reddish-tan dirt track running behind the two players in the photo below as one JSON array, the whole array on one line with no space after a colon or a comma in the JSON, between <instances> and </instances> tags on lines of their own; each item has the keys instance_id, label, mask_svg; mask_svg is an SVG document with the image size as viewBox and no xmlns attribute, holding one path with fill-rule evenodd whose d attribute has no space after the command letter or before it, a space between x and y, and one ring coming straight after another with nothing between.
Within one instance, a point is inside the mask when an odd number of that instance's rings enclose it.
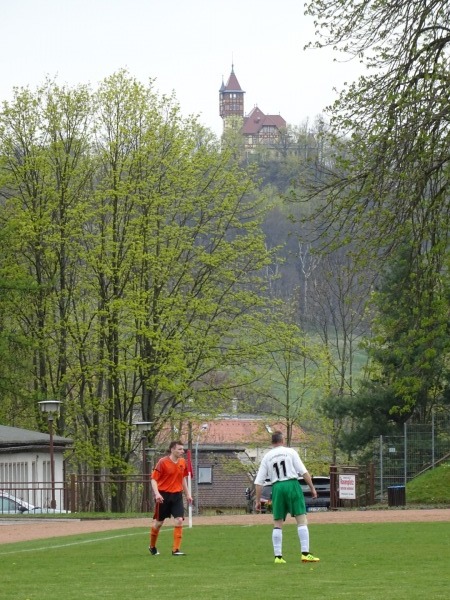
<instances>
[{"instance_id":1,"label":"reddish-tan dirt track running behind the two players","mask_svg":"<svg viewBox=\"0 0 450 600\"><path fill-rule=\"evenodd\" d=\"M320 523L377 523L450 521L450 509L387 509L309 513L311 525ZM139 519L0 519L0 543L28 541L81 533L148 527L150 518ZM193 525L270 525L271 515L219 515L194 517ZM186 523L187 525L187 523Z\"/></svg>"}]
</instances>

